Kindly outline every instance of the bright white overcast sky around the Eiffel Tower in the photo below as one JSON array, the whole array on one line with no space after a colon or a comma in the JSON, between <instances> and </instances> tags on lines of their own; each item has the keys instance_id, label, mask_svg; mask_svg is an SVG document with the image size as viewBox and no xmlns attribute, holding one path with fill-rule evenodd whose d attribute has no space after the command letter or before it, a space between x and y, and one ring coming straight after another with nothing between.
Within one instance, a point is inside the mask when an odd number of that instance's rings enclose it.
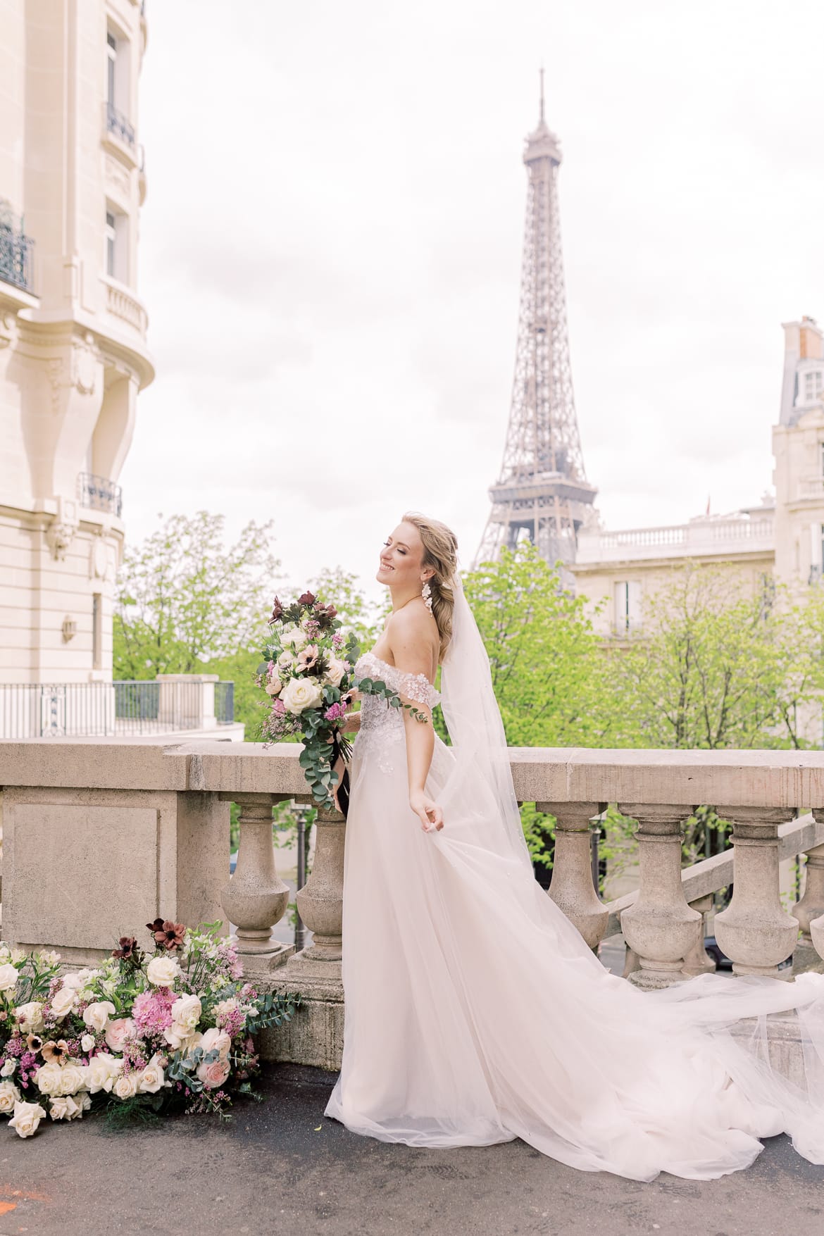
<instances>
[{"instance_id":1,"label":"bright white overcast sky around the Eiffel Tower","mask_svg":"<svg viewBox=\"0 0 824 1236\"><path fill-rule=\"evenodd\" d=\"M121 481L364 582L414 507L466 564L500 466L546 114L576 403L609 528L757 502L781 323L824 318L822 0L149 0ZM372 591L374 585L369 585Z\"/></svg>"}]
</instances>

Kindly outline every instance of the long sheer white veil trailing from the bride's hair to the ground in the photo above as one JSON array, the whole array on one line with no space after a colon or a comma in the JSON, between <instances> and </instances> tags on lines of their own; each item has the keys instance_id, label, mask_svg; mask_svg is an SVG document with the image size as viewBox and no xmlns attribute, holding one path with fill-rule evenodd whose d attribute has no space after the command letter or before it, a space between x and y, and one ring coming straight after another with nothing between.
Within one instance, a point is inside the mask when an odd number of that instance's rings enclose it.
<instances>
[{"instance_id":1,"label":"long sheer white veil trailing from the bride's hair to the ground","mask_svg":"<svg viewBox=\"0 0 824 1236\"><path fill-rule=\"evenodd\" d=\"M441 688L452 745L432 776L446 823L421 837L437 855L421 879L473 1068L436 1043L427 1068L435 1051L450 1056L453 1110L418 1112L408 1127L394 1120L392 1135L377 1120L363 1131L462 1145L471 1121L460 1095L477 1115L483 1090L500 1130L487 1141L519 1136L588 1170L718 1177L782 1131L824 1163L824 975L709 974L655 993L610 975L534 879L489 660L460 580ZM421 1000L434 973L430 959ZM791 1077L770 1057L767 1018L780 1012L798 1026Z\"/></svg>"}]
</instances>

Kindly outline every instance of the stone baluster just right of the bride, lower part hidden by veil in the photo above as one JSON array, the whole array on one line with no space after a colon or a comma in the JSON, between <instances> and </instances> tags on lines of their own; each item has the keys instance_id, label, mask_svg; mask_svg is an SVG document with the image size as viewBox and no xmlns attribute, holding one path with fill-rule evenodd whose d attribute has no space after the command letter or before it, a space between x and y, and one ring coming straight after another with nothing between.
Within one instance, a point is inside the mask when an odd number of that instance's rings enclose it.
<instances>
[{"instance_id":1,"label":"stone baluster just right of the bride, lower part hidden by veil","mask_svg":"<svg viewBox=\"0 0 824 1236\"><path fill-rule=\"evenodd\" d=\"M591 819L600 806L597 802L536 802L535 806L556 819L550 896L589 948L597 948L609 918L592 880Z\"/></svg>"}]
</instances>

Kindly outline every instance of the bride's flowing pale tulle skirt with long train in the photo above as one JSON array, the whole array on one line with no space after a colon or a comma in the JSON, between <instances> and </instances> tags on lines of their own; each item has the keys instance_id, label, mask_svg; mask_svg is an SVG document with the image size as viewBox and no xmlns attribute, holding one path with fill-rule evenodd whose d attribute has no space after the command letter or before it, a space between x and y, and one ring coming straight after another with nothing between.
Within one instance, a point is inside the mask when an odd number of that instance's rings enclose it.
<instances>
[{"instance_id":1,"label":"bride's flowing pale tulle skirt with long train","mask_svg":"<svg viewBox=\"0 0 824 1236\"><path fill-rule=\"evenodd\" d=\"M345 1035L326 1115L409 1146L521 1137L588 1172L712 1179L792 1136L824 1163L824 975L708 974L641 993L609 974L493 822L425 833L404 758L356 744L343 883ZM436 740L427 790L453 756ZM803 1068L771 1064L794 1010ZM755 1018L742 1037L742 1018ZM731 1028L736 1033L731 1033Z\"/></svg>"}]
</instances>

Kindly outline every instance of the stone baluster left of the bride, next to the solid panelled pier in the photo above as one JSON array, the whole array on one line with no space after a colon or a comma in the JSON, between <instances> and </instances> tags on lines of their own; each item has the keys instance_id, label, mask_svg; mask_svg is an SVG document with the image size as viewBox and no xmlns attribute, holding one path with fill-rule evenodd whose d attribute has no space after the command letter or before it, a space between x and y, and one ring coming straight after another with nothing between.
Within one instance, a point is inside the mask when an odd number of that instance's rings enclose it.
<instances>
[{"instance_id":1,"label":"stone baluster left of the bride, next to the solid panelled pier","mask_svg":"<svg viewBox=\"0 0 824 1236\"><path fill-rule=\"evenodd\" d=\"M292 946L272 937L273 926L289 905L289 886L278 876L272 843L272 805L282 795L221 794L220 797L237 802L241 808L237 865L221 890L220 901L236 927L243 969L272 970L294 952Z\"/></svg>"}]
</instances>

